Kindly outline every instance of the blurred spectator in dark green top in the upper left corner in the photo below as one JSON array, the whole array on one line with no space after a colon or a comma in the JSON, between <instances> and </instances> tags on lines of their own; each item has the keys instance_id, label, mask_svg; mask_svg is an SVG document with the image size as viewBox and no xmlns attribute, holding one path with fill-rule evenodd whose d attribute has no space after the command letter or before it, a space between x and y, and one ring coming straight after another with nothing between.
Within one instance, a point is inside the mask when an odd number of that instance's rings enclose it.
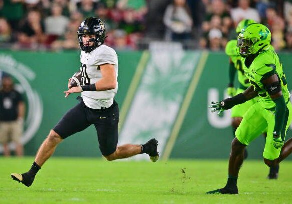
<instances>
[{"instance_id":1,"label":"blurred spectator in dark green top in the upper left corner","mask_svg":"<svg viewBox=\"0 0 292 204\"><path fill-rule=\"evenodd\" d=\"M20 20L24 17L23 0L0 0L0 16L9 22L13 30L17 30Z\"/></svg>"}]
</instances>

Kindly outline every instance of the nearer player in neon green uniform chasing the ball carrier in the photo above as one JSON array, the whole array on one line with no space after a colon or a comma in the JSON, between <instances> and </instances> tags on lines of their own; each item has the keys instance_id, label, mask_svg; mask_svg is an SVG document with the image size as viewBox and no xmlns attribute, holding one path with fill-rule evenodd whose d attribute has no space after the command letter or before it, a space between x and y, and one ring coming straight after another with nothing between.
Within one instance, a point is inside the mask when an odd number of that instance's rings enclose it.
<instances>
[{"instance_id":1,"label":"nearer player in neon green uniform chasing the ball carrier","mask_svg":"<svg viewBox=\"0 0 292 204\"><path fill-rule=\"evenodd\" d=\"M220 113L257 95L259 99L244 114L235 132L227 184L208 194L238 194L237 178L243 163L244 149L265 129L267 138L263 158L266 165L274 167L292 152L292 138L284 142L292 120L290 93L278 55L269 49L270 41L270 30L258 23L245 26L237 38L237 48L243 57L243 70L252 85L232 98L212 102L210 108L214 108L212 112Z\"/></svg>"}]
</instances>

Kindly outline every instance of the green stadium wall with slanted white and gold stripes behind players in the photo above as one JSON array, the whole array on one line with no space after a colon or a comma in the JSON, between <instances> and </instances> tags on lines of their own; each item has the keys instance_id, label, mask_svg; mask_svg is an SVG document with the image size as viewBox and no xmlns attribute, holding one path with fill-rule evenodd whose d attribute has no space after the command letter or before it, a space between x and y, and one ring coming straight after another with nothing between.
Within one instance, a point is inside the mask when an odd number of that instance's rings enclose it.
<instances>
[{"instance_id":1,"label":"green stadium wall with slanted white and gold stripes behind players","mask_svg":"<svg viewBox=\"0 0 292 204\"><path fill-rule=\"evenodd\" d=\"M208 110L210 101L224 97L228 83L228 57L223 52L117 54L119 90L115 100L120 107L121 144L155 137L162 159L228 157L233 138L230 112L218 117ZM79 69L79 55L79 51L0 51L0 70L15 77L27 101L26 155L36 153L49 130L78 102L77 94L64 98L63 91L68 78ZM292 54L279 56L288 84L292 84ZM291 135L288 130L286 138ZM264 138L259 136L248 147L249 157L262 158L263 147ZM55 156L101 156L95 128L66 139Z\"/></svg>"}]
</instances>

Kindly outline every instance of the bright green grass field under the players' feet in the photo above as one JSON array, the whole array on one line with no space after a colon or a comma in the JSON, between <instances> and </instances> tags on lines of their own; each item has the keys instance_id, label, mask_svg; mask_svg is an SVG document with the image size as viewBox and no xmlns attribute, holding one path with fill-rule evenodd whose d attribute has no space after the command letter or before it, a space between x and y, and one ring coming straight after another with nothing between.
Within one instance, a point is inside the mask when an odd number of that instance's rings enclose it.
<instances>
[{"instance_id":1,"label":"bright green grass field under the players' feet","mask_svg":"<svg viewBox=\"0 0 292 204\"><path fill-rule=\"evenodd\" d=\"M292 162L283 162L278 180L267 180L262 161L243 164L239 195L206 195L223 187L227 160L108 162L52 158L31 187L10 178L33 158L0 158L0 203L291 203ZM183 173L184 171L184 173Z\"/></svg>"}]
</instances>

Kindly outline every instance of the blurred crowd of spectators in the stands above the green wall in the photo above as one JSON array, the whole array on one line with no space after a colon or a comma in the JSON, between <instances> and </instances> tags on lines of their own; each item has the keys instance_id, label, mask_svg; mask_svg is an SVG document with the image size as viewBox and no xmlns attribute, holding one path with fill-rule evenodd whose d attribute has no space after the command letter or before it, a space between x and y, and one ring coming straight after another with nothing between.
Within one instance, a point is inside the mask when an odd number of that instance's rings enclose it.
<instances>
[{"instance_id":1,"label":"blurred crowd of spectators in the stands above the green wall","mask_svg":"<svg viewBox=\"0 0 292 204\"><path fill-rule=\"evenodd\" d=\"M92 16L105 23L115 49L164 40L223 50L244 18L265 24L276 50L292 49L292 0L0 0L0 46L78 49L78 26Z\"/></svg>"}]
</instances>

